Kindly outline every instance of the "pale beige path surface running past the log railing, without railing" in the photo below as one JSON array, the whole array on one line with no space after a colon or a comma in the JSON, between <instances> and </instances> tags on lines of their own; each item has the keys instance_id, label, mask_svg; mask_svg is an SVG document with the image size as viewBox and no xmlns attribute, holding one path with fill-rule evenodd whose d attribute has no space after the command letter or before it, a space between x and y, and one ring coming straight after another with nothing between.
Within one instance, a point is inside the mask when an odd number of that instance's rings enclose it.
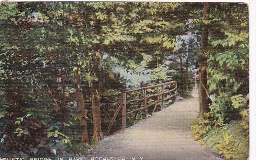
<instances>
[{"instance_id":1,"label":"pale beige path surface running past the log railing, without railing","mask_svg":"<svg viewBox=\"0 0 256 160\"><path fill-rule=\"evenodd\" d=\"M198 93L175 102L166 109L126 130L105 137L92 157L125 157L126 160L217 160L206 147L193 140L190 126L198 116ZM140 158L141 157L141 158ZM97 158L96 158L97 159ZM124 158L123 158L124 159ZM122 159L122 160L123 160Z\"/></svg>"}]
</instances>

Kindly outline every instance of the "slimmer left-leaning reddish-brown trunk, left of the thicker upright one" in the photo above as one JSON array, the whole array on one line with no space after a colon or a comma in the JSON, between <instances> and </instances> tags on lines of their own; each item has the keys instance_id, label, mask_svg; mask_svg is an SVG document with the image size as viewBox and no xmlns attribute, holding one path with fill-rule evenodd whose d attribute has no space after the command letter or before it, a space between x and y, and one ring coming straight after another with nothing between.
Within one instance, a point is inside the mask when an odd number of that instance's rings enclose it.
<instances>
[{"instance_id":1,"label":"slimmer left-leaning reddish-brown trunk, left of the thicker upright one","mask_svg":"<svg viewBox=\"0 0 256 160\"><path fill-rule=\"evenodd\" d=\"M82 91L82 80L79 74L79 70L76 69L74 72L75 85L76 85L76 101L78 106L78 115L80 117L80 135L81 142L87 146L89 145L89 136L87 130L87 113L85 109L84 95Z\"/></svg>"}]
</instances>

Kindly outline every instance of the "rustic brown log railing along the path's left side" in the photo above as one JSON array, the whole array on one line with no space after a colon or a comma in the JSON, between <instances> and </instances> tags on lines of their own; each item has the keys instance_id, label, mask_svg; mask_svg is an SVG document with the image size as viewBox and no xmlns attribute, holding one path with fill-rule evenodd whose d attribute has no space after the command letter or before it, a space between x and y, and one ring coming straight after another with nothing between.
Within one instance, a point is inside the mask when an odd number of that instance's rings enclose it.
<instances>
[{"instance_id":1,"label":"rustic brown log railing along the path's left side","mask_svg":"<svg viewBox=\"0 0 256 160\"><path fill-rule=\"evenodd\" d=\"M171 88L174 87L174 88ZM150 95L147 95L147 90L148 89L151 89L151 88L157 88L157 87L161 87L159 93L157 94L150 94ZM129 100L127 101L127 94L131 93L131 92L135 92L135 91L140 91L140 90L143 90L143 98L138 98L138 99L132 99L132 100ZM171 92L174 92L174 94L171 94ZM169 93L169 95L168 95ZM168 95L166 97L166 95ZM116 110L109 126L108 126L108 133L118 115L118 112L122 109L122 130L124 130L126 128L126 116L133 113L133 112L136 112L135 114L135 117L134 119L136 118L136 115L137 113L140 111L140 110L144 110L144 115L145 117L147 117L147 109L150 108L150 107L154 107L153 109L153 112L155 112L156 110L156 107L157 107L157 104L159 102L162 102L162 106L161 106L161 110L165 108L165 101L167 101L168 99L176 96L177 97L178 95L178 90L177 90L177 81L169 81L169 82L165 82L165 83L161 83L161 84L158 84L158 85L151 85L151 86L146 86L146 87L142 87L142 88L137 88L137 89L134 89L134 90L127 90L127 91L124 91L122 93L122 103L119 105L118 109ZM155 102L152 102L151 104L147 104L147 100L150 99L150 98L153 98L153 97L156 97L158 96L158 99L155 101ZM137 108L137 109L134 109L134 110L131 110L129 112L127 112L127 109L126 109L126 105L131 103L131 102L135 102L135 101L143 101L144 102L144 105L143 107L140 107L140 108ZM152 113L153 113L152 112Z\"/></svg>"}]
</instances>

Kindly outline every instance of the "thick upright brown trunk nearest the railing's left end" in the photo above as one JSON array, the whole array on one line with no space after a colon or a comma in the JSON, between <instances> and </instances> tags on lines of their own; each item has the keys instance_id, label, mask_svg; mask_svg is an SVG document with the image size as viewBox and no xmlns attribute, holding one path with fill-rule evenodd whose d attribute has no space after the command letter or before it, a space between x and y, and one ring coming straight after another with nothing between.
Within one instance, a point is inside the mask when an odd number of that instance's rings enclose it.
<instances>
[{"instance_id":1,"label":"thick upright brown trunk nearest the railing's left end","mask_svg":"<svg viewBox=\"0 0 256 160\"><path fill-rule=\"evenodd\" d=\"M95 36L100 36L101 21L95 17ZM93 141L101 139L101 118L100 118L100 44L93 44L92 50L92 114L93 114Z\"/></svg>"}]
</instances>

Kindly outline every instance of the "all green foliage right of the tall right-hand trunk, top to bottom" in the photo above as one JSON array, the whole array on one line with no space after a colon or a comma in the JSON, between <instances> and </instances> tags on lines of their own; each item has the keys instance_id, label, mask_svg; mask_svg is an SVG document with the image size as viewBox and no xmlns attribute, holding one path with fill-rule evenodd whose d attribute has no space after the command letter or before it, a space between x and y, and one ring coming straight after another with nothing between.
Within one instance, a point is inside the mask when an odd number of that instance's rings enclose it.
<instances>
[{"instance_id":1,"label":"all green foliage right of the tall right-hand trunk, top to bottom","mask_svg":"<svg viewBox=\"0 0 256 160\"><path fill-rule=\"evenodd\" d=\"M226 21L225 17L233 21ZM249 34L246 18L245 5L219 3L211 7L209 21L200 18L192 21L194 25L207 23L215 29L209 29L211 47L206 53L212 103L209 113L191 128L195 139L200 139L225 159L248 158L249 106L245 95L249 91Z\"/></svg>"}]
</instances>

